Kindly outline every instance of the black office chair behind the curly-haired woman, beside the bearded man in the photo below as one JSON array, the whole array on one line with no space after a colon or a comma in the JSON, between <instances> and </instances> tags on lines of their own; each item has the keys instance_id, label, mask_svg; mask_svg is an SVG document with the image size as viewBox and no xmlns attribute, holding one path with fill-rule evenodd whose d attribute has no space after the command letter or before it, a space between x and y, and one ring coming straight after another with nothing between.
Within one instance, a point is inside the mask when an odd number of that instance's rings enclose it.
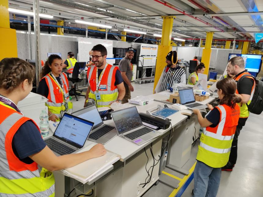
<instances>
[{"instance_id":1,"label":"black office chair behind the curly-haired woman, beside the bearded man","mask_svg":"<svg viewBox=\"0 0 263 197\"><path fill-rule=\"evenodd\" d=\"M68 80L74 83L74 89L69 90L69 96L75 96L76 100L78 100L77 96L86 97L86 95L81 94L82 93L81 89L76 88L76 83L81 82L84 79L84 78L79 78L80 68L83 68L85 71L85 67L86 67L86 62L76 62L72 71L72 78L69 77L70 75L69 72L65 72L68 76Z\"/></svg>"}]
</instances>

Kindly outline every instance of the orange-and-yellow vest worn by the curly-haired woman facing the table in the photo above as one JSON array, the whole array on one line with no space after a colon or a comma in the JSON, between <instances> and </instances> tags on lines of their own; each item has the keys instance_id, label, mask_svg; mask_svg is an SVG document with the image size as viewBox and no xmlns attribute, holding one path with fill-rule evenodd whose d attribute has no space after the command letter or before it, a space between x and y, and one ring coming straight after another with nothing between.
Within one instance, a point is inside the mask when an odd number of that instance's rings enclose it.
<instances>
[{"instance_id":1,"label":"orange-and-yellow vest worn by the curly-haired woman facing the table","mask_svg":"<svg viewBox=\"0 0 263 197\"><path fill-rule=\"evenodd\" d=\"M65 73L60 74L63 82L63 86L65 89L66 93L66 102L68 104L68 111L71 112L73 108L72 102L69 101L69 81L66 77ZM55 114L57 117L60 116L61 111L65 111L65 106L64 106L64 93L62 91L62 88L57 82L54 80L54 78L50 75L47 74L44 76L41 80L46 80L46 84L48 86L48 96L47 99L48 101L46 102L46 106L48 107L48 110Z\"/></svg>"}]
</instances>

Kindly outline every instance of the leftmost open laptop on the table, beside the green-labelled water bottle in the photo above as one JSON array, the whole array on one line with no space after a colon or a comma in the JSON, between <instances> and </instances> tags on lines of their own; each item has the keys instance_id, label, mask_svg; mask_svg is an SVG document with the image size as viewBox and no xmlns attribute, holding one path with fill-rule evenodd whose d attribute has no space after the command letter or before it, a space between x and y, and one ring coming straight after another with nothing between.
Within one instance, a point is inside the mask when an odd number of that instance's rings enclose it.
<instances>
[{"instance_id":1,"label":"leftmost open laptop on the table, beside the green-labelled water bottle","mask_svg":"<svg viewBox=\"0 0 263 197\"><path fill-rule=\"evenodd\" d=\"M74 153L83 148L94 122L65 113L53 136L46 138L46 145L55 155Z\"/></svg>"}]
</instances>

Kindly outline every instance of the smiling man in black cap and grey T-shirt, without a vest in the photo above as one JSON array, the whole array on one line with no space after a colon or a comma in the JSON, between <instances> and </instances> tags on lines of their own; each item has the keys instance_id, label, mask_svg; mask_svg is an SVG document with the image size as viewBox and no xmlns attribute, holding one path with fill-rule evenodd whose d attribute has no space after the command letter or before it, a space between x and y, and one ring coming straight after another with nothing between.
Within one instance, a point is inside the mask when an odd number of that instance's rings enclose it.
<instances>
[{"instance_id":1,"label":"smiling man in black cap and grey T-shirt, without a vest","mask_svg":"<svg viewBox=\"0 0 263 197\"><path fill-rule=\"evenodd\" d=\"M131 78L133 75L133 66L131 64L131 59L134 56L135 50L132 47L126 49L126 56L120 60L119 69L121 76L124 80L125 87L125 96L122 100L122 103L128 103L128 99L131 99L131 92L134 91L133 86L131 85Z\"/></svg>"}]
</instances>

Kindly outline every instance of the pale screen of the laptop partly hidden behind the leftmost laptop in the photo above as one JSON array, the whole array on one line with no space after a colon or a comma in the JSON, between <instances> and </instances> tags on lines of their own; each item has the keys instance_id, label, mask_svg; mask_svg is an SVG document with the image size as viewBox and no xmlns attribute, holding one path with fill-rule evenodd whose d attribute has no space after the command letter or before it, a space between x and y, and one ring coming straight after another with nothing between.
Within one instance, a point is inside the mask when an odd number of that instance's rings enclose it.
<instances>
[{"instance_id":1,"label":"pale screen of the laptop partly hidden behind the leftmost laptop","mask_svg":"<svg viewBox=\"0 0 263 197\"><path fill-rule=\"evenodd\" d=\"M91 122L94 122L93 129L95 129L98 126L101 126L103 124L102 119L99 115L98 109L96 108L96 105L91 105L89 107L80 109L78 111L74 111L71 114L78 116L80 118L83 118L85 120L89 120Z\"/></svg>"}]
</instances>

